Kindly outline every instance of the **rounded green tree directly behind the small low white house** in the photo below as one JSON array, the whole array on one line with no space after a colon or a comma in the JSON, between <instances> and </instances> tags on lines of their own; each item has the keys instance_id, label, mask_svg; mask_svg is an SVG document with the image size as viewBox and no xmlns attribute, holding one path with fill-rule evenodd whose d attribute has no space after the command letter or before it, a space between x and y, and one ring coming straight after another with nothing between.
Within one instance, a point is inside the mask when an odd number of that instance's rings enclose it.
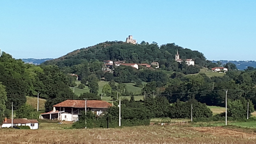
<instances>
[{"instance_id":1,"label":"rounded green tree directly behind the small low white house","mask_svg":"<svg viewBox=\"0 0 256 144\"><path fill-rule=\"evenodd\" d=\"M16 118L38 119L39 113L32 106L25 104L16 110Z\"/></svg>"}]
</instances>

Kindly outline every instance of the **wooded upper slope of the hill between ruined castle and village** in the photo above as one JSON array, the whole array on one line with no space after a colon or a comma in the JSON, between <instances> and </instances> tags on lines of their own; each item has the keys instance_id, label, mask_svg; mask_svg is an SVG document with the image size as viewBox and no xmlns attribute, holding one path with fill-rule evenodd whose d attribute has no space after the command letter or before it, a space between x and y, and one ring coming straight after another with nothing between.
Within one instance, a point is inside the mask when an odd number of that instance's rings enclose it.
<instances>
[{"instance_id":1,"label":"wooded upper slope of the hill between ruined castle and village","mask_svg":"<svg viewBox=\"0 0 256 144\"><path fill-rule=\"evenodd\" d=\"M122 41L103 42L91 47L81 48L68 53L58 59L49 60L44 64L55 64L60 68L71 67L84 62L103 61L103 60L126 60L129 63L148 63L157 61L160 68L169 67L173 61L175 62L175 54L179 51L181 59L193 59L199 67L207 65L207 67L216 67L215 63L206 60L203 53L182 48L174 43L164 44L160 47L157 43L142 41L141 44L127 44ZM169 68L170 70L170 68Z\"/></svg>"}]
</instances>

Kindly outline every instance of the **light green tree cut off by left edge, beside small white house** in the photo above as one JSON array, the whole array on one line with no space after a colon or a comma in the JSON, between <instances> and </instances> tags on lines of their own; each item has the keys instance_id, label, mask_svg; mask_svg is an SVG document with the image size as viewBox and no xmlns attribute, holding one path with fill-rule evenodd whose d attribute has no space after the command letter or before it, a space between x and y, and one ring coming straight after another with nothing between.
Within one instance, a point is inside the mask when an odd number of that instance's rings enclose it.
<instances>
[{"instance_id":1,"label":"light green tree cut off by left edge, beside small white house","mask_svg":"<svg viewBox=\"0 0 256 144\"><path fill-rule=\"evenodd\" d=\"M5 91L5 86L0 82L0 125L4 119L4 111L6 110L7 92Z\"/></svg>"}]
</instances>

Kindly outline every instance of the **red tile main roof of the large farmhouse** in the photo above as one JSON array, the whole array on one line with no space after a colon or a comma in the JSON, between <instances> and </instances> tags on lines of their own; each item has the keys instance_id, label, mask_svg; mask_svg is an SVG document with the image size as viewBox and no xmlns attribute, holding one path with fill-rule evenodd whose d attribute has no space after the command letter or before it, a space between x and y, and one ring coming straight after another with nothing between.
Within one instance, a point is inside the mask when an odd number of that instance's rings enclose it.
<instances>
[{"instance_id":1,"label":"red tile main roof of the large farmhouse","mask_svg":"<svg viewBox=\"0 0 256 144\"><path fill-rule=\"evenodd\" d=\"M85 100L65 100L53 107L84 108ZM103 100L87 100L87 108L109 108L112 104Z\"/></svg>"}]
</instances>

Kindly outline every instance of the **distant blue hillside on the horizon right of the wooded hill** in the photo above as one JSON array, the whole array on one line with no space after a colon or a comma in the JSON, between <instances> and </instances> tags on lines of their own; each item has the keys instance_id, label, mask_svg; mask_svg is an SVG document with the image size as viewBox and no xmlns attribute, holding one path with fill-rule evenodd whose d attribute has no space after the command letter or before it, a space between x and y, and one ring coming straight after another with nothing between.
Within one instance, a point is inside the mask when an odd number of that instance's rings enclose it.
<instances>
[{"instance_id":1,"label":"distant blue hillside on the horizon right of the wooded hill","mask_svg":"<svg viewBox=\"0 0 256 144\"><path fill-rule=\"evenodd\" d=\"M217 60L212 60L212 62L217 63ZM247 69L247 67L256 68L256 61L234 61L234 60L220 60L221 64L224 65L228 62L234 63L239 70Z\"/></svg>"}]
</instances>

